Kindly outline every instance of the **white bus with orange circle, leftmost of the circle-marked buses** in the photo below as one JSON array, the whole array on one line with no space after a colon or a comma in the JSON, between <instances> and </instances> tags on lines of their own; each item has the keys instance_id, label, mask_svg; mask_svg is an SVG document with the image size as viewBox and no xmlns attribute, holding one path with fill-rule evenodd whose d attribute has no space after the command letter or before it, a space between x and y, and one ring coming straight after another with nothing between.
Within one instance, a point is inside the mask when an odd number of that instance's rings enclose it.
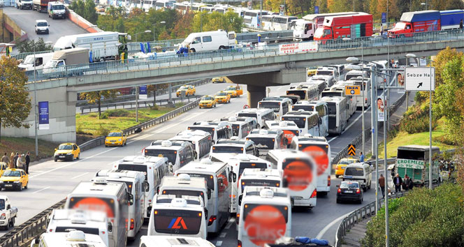
<instances>
[{"instance_id":1,"label":"white bus with orange circle, leftmost of the circle-marked buses","mask_svg":"<svg viewBox=\"0 0 464 247\"><path fill-rule=\"evenodd\" d=\"M129 205L133 196L124 183L107 182L106 179L82 181L66 197L65 209L103 211L108 218L109 247L125 246Z\"/></svg>"}]
</instances>

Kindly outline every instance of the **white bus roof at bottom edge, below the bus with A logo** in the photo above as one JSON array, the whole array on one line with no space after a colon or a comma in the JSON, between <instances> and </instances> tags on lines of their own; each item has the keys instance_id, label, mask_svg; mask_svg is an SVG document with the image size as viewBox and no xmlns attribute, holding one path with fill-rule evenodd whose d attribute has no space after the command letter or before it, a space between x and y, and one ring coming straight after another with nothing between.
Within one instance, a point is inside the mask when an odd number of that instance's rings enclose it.
<instances>
[{"instance_id":1,"label":"white bus roof at bottom edge, below the bus with A logo","mask_svg":"<svg viewBox=\"0 0 464 247\"><path fill-rule=\"evenodd\" d=\"M139 247L215 247L210 241L200 237L142 236Z\"/></svg>"}]
</instances>

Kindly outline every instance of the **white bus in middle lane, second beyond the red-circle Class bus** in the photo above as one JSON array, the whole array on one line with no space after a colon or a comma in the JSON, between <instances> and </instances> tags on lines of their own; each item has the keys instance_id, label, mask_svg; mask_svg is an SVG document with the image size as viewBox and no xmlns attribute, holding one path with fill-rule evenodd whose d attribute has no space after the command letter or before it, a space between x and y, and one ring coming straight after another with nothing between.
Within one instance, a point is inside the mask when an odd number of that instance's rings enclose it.
<instances>
[{"instance_id":1,"label":"white bus in middle lane, second beyond the red-circle Class bus","mask_svg":"<svg viewBox=\"0 0 464 247\"><path fill-rule=\"evenodd\" d=\"M272 167L272 164L269 161L258 158L251 154L212 154L211 160L229 164L231 170L238 176L238 179L233 181L231 186L231 214L236 213L238 210L238 180L240 179L242 172L247 168L276 168Z\"/></svg>"}]
</instances>

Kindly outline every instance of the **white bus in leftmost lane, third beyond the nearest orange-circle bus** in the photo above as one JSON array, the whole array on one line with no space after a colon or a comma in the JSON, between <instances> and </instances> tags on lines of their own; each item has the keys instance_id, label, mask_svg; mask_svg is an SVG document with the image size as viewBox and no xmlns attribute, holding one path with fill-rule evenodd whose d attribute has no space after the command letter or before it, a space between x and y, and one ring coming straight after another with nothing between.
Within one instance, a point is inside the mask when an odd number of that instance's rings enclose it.
<instances>
[{"instance_id":1,"label":"white bus in leftmost lane, third beyond the nearest orange-circle bus","mask_svg":"<svg viewBox=\"0 0 464 247\"><path fill-rule=\"evenodd\" d=\"M155 156L168 158L171 172L195 160L196 151L193 144L184 141L159 140L154 141L142 150L143 156Z\"/></svg>"}]
</instances>

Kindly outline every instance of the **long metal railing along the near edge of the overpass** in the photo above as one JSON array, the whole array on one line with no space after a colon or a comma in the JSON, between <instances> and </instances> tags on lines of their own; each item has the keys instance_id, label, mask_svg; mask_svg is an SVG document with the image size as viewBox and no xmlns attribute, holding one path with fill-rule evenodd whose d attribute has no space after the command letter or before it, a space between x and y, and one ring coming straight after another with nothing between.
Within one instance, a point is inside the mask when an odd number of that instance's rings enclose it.
<instances>
[{"instance_id":1,"label":"long metal railing along the near edge of the overpass","mask_svg":"<svg viewBox=\"0 0 464 247\"><path fill-rule=\"evenodd\" d=\"M282 50L282 45L266 45L259 47L241 47L230 50L217 50L214 52L196 52L187 54L173 54L166 57L148 57L128 59L125 61L106 61L101 63L79 64L37 70L38 81L51 80L62 77L82 75L96 75L101 73L124 73L133 70L152 70L172 66L194 65L201 63L237 61L256 57L272 57L284 54L308 53L330 50L346 50L364 47L383 47L390 45L405 45L414 43L427 43L447 40L464 40L463 30L432 31L414 33L410 37L386 38L386 36L353 38L352 40L320 40L299 43L301 47L307 45L315 47L312 50ZM29 82L34 81L34 71L28 71ZM83 82L84 83L84 82Z\"/></svg>"}]
</instances>

